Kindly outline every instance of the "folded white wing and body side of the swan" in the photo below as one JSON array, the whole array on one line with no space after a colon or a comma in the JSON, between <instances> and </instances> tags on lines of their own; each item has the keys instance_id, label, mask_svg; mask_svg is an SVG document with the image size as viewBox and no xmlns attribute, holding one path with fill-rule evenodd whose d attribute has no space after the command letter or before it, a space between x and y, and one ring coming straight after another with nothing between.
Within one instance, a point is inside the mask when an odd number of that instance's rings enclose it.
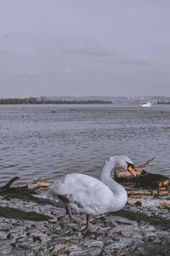
<instances>
[{"instance_id":1,"label":"folded white wing and body side of the swan","mask_svg":"<svg viewBox=\"0 0 170 256\"><path fill-rule=\"evenodd\" d=\"M48 195L64 195L77 212L100 214L108 212L113 193L104 183L80 173L67 174L48 189Z\"/></svg>"}]
</instances>

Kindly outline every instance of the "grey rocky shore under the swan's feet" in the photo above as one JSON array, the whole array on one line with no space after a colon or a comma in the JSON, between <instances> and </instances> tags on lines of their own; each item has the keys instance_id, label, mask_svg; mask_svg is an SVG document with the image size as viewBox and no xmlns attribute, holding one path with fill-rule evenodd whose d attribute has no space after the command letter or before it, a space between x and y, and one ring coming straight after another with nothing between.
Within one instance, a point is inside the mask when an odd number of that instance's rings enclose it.
<instances>
[{"instance_id":1,"label":"grey rocky shore under the swan's feet","mask_svg":"<svg viewBox=\"0 0 170 256\"><path fill-rule=\"evenodd\" d=\"M169 208L157 201L91 218L32 198L0 197L0 255L170 255Z\"/></svg>"}]
</instances>

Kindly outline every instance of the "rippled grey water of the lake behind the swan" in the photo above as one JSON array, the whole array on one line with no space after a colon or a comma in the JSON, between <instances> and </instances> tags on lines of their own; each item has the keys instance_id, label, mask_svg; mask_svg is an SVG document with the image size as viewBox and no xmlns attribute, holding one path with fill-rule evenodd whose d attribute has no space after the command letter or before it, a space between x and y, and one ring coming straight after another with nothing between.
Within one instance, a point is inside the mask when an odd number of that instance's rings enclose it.
<instances>
[{"instance_id":1,"label":"rippled grey water of the lake behind the swan","mask_svg":"<svg viewBox=\"0 0 170 256\"><path fill-rule=\"evenodd\" d=\"M170 176L170 106L1 105L0 122L1 184L69 172L99 177L114 154L137 165L156 156L148 171Z\"/></svg>"}]
</instances>

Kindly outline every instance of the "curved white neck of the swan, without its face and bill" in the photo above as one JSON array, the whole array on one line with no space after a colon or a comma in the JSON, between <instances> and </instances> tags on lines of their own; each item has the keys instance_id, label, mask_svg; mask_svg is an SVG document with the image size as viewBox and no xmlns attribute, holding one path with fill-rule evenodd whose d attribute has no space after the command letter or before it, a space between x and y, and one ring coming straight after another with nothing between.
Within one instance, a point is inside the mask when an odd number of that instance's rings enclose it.
<instances>
[{"instance_id":1,"label":"curved white neck of the swan, without its face and bill","mask_svg":"<svg viewBox=\"0 0 170 256\"><path fill-rule=\"evenodd\" d=\"M120 208L122 208L127 202L127 192L121 184L116 183L116 181L111 177L111 171L116 165L122 166L122 162L118 155L111 157L109 161L105 162L105 166L100 174L100 180L111 189L115 195L117 204L121 204L122 202L122 206L120 205Z\"/></svg>"}]
</instances>

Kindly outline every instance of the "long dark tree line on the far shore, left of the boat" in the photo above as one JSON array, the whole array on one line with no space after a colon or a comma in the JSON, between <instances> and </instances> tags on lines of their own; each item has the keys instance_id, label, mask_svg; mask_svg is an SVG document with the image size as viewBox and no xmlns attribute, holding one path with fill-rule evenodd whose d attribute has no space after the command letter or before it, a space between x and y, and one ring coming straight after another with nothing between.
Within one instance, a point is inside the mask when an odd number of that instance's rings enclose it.
<instances>
[{"instance_id":1,"label":"long dark tree line on the far shore, left of the boat","mask_svg":"<svg viewBox=\"0 0 170 256\"><path fill-rule=\"evenodd\" d=\"M111 104L111 101L102 101L102 100L74 100L74 101L65 101L65 100L50 100L45 97L36 98L7 98L0 99L0 104Z\"/></svg>"}]
</instances>

